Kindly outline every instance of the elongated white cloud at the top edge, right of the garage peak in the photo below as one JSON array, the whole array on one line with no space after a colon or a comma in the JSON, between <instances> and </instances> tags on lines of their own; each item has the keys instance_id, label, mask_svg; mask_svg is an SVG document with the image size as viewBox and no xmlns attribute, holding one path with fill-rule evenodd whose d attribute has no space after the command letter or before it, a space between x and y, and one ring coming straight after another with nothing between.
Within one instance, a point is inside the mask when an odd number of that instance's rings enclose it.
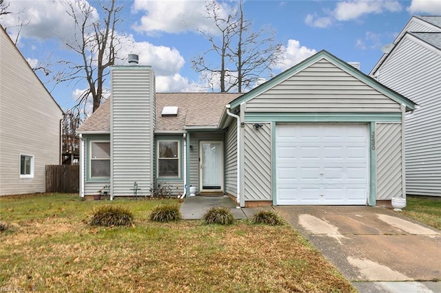
<instances>
[{"instance_id":1,"label":"elongated white cloud at the top edge, right of the garage peak","mask_svg":"<svg viewBox=\"0 0 441 293\"><path fill-rule=\"evenodd\" d=\"M425 1L425 0L413 0ZM431 0L429 0L431 1ZM325 16L308 14L305 23L316 28L328 28L337 21L354 21L365 14L400 12L402 6L397 0L347 0L338 1L334 10L325 10Z\"/></svg>"}]
</instances>

